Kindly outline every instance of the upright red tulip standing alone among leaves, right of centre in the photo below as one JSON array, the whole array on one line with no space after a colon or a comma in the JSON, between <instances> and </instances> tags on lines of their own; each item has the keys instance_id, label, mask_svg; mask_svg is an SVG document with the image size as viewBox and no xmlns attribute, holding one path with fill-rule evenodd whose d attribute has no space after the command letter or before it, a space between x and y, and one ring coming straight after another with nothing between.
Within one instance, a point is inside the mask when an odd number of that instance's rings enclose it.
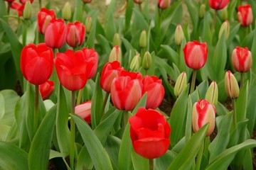
<instances>
[{"instance_id":1,"label":"upright red tulip standing alone among leaves, right of centre","mask_svg":"<svg viewBox=\"0 0 256 170\"><path fill-rule=\"evenodd\" d=\"M185 62L191 69L201 69L206 64L208 48L206 42L187 42L183 48Z\"/></svg>"}]
</instances>

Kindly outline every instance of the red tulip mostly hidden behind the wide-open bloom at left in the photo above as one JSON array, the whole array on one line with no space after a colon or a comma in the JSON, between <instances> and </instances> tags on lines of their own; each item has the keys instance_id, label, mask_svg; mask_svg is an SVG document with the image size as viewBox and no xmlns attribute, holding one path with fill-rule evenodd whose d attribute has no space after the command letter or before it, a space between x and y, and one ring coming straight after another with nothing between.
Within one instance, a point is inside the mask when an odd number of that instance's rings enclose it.
<instances>
[{"instance_id":1,"label":"red tulip mostly hidden behind the wide-open bloom at left","mask_svg":"<svg viewBox=\"0 0 256 170\"><path fill-rule=\"evenodd\" d=\"M97 52L93 48L82 48L82 52L85 55L86 62L90 63L90 68L87 70L88 79L92 79L94 77L95 73L97 72L97 62L99 60L99 57L97 55Z\"/></svg>"}]
</instances>

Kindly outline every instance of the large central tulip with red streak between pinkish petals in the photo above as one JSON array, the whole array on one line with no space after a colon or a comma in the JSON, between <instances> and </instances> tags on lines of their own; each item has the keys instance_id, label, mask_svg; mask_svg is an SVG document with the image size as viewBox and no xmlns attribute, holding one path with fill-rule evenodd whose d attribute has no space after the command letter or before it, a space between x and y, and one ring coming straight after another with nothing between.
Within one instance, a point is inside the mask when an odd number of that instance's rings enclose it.
<instances>
[{"instance_id":1,"label":"large central tulip with red streak between pinkish petals","mask_svg":"<svg viewBox=\"0 0 256 170\"><path fill-rule=\"evenodd\" d=\"M142 74L122 71L113 79L110 93L116 108L132 111L142 98Z\"/></svg>"}]
</instances>

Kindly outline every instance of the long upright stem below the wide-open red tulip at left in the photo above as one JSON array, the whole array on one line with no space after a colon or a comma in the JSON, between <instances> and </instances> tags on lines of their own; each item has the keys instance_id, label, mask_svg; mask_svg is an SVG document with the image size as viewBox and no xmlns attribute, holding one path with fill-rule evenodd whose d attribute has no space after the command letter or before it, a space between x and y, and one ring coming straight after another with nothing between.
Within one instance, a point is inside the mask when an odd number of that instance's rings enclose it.
<instances>
[{"instance_id":1,"label":"long upright stem below the wide-open red tulip at left","mask_svg":"<svg viewBox=\"0 0 256 170\"><path fill-rule=\"evenodd\" d=\"M71 115L75 115L75 91L71 94ZM75 121L73 118L70 120L70 168L74 167L74 155L75 155Z\"/></svg>"}]
</instances>

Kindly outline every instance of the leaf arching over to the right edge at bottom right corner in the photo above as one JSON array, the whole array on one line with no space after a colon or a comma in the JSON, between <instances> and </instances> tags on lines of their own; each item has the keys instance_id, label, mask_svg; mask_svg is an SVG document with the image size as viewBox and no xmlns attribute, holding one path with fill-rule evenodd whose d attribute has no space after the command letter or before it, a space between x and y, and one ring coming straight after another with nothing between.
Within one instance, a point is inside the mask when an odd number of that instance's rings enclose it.
<instances>
[{"instance_id":1,"label":"leaf arching over to the right edge at bottom right corner","mask_svg":"<svg viewBox=\"0 0 256 170\"><path fill-rule=\"evenodd\" d=\"M206 170L224 170L228 169L230 162L232 162L235 154L242 149L251 149L252 147L256 147L256 140L246 140L239 145L235 145L234 147L230 147L226 149L224 152L218 155L213 162L208 164Z\"/></svg>"}]
</instances>

